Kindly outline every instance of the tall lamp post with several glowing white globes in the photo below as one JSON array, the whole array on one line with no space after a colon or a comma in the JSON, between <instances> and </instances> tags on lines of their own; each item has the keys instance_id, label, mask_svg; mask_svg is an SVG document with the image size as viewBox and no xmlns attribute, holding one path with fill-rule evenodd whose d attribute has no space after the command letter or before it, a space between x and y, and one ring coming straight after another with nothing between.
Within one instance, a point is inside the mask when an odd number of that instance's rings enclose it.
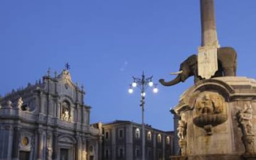
<instances>
[{"instance_id":1,"label":"tall lamp post with several glowing white globes","mask_svg":"<svg viewBox=\"0 0 256 160\"><path fill-rule=\"evenodd\" d=\"M128 92L131 94L134 92L133 88L138 87L140 88L140 107L142 107L142 160L145 160L145 124L144 124L144 104L145 104L145 90L147 90L148 86L153 86L153 92L157 93L158 88L156 88L156 84L152 82L152 78L148 77L145 78L144 72L142 72L142 78L135 78L134 82L130 84L130 88Z\"/></svg>"}]
</instances>

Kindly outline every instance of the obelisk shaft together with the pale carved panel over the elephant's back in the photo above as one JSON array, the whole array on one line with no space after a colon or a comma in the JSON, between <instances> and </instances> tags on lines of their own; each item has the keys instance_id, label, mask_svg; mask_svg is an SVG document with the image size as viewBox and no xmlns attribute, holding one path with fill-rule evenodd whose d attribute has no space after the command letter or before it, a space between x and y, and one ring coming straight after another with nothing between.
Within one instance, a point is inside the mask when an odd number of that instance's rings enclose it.
<instances>
[{"instance_id":1,"label":"obelisk shaft together with the pale carved panel over the elephant's back","mask_svg":"<svg viewBox=\"0 0 256 160\"><path fill-rule=\"evenodd\" d=\"M213 0L200 0L202 45L198 48L198 75L208 79L218 70L219 46Z\"/></svg>"}]
</instances>

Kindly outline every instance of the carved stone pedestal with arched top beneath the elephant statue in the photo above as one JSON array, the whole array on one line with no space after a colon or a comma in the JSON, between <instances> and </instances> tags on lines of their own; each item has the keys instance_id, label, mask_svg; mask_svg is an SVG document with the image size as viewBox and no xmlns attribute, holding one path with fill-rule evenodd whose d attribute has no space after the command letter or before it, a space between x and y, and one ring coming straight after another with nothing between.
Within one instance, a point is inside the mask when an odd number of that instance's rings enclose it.
<instances>
[{"instance_id":1,"label":"carved stone pedestal with arched top beneath the elephant statue","mask_svg":"<svg viewBox=\"0 0 256 160\"><path fill-rule=\"evenodd\" d=\"M201 80L172 112L181 118L181 156L173 159L256 159L256 80Z\"/></svg>"}]
</instances>

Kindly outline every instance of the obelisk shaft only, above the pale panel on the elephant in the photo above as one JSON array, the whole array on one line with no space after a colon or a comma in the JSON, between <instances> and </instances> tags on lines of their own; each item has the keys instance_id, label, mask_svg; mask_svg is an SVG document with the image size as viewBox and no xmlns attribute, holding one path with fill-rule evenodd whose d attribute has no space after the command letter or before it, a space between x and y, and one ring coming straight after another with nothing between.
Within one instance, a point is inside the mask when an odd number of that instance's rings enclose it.
<instances>
[{"instance_id":1,"label":"obelisk shaft only, above the pale panel on the elephant","mask_svg":"<svg viewBox=\"0 0 256 160\"><path fill-rule=\"evenodd\" d=\"M200 0L202 46L218 44L213 0Z\"/></svg>"}]
</instances>

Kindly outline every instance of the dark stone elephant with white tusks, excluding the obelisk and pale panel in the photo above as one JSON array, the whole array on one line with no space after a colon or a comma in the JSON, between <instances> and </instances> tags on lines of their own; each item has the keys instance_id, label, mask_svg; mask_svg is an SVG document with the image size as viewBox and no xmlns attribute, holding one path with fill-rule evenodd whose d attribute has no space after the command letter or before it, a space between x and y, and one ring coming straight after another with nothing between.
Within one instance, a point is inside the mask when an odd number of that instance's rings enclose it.
<instances>
[{"instance_id":1,"label":"dark stone elephant with white tusks, excluding the obelisk and pale panel","mask_svg":"<svg viewBox=\"0 0 256 160\"><path fill-rule=\"evenodd\" d=\"M231 47L223 47L217 49L218 57L218 70L212 77L223 76L236 76L236 51ZM179 82L184 82L187 78L194 75L194 82L202 80L203 78L198 75L197 72L197 55L188 57L181 63L179 72L175 72L177 77L169 82L165 82L164 79L160 79L159 82L164 86L176 85Z\"/></svg>"}]
</instances>

